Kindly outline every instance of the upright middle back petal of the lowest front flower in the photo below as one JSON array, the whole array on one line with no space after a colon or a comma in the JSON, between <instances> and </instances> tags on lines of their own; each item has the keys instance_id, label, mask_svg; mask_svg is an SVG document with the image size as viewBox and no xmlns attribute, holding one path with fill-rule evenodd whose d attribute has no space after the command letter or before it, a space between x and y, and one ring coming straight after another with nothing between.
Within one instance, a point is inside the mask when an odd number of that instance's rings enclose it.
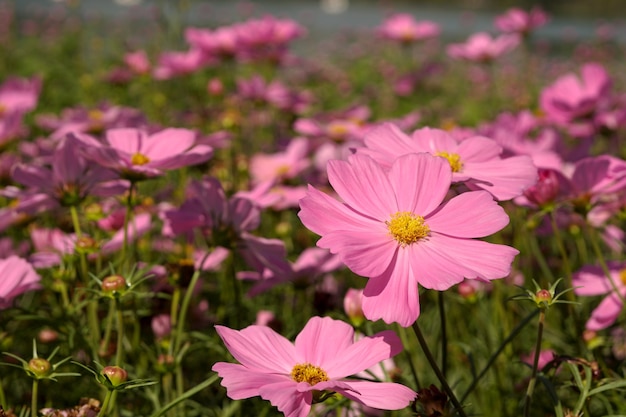
<instances>
[{"instance_id":1,"label":"upright middle back petal of the lowest front flower","mask_svg":"<svg viewBox=\"0 0 626 417\"><path fill-rule=\"evenodd\" d=\"M296 337L298 363L310 363L328 373L328 364L334 362L335 355L348 349L353 341L354 329L348 323L330 317L312 317Z\"/></svg>"}]
</instances>

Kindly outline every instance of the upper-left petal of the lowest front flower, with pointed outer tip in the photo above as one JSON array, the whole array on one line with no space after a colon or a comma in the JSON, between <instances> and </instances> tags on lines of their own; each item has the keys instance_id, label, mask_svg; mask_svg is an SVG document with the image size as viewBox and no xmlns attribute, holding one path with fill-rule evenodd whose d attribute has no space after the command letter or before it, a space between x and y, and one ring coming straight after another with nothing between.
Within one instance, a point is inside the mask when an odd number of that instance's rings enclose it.
<instances>
[{"instance_id":1,"label":"upper-left petal of the lowest front flower, with pointed outer tip","mask_svg":"<svg viewBox=\"0 0 626 417\"><path fill-rule=\"evenodd\" d=\"M291 342L267 326L237 331L218 325L215 330L233 357L252 371L288 375L297 363Z\"/></svg>"}]
</instances>

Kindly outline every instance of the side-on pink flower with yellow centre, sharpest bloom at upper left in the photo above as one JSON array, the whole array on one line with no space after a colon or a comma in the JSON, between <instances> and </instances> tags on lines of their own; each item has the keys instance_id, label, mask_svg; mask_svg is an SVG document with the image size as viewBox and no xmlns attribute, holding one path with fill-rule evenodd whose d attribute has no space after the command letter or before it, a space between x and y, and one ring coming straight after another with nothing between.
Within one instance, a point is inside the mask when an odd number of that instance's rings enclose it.
<instances>
[{"instance_id":1,"label":"side-on pink flower with yellow centre, sharpest bloom at upper left","mask_svg":"<svg viewBox=\"0 0 626 417\"><path fill-rule=\"evenodd\" d=\"M196 145L196 134L188 129L170 128L152 135L140 129L110 129L105 141L84 134L77 138L85 145L87 158L132 181L200 164L213 155L210 146Z\"/></svg>"}]
</instances>

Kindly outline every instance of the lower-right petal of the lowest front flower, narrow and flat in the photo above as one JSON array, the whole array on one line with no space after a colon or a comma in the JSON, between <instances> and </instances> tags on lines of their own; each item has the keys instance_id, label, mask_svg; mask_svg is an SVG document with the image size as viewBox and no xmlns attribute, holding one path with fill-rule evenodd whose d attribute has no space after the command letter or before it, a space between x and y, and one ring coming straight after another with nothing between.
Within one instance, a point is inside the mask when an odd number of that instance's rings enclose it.
<instances>
[{"instance_id":1,"label":"lower-right petal of the lowest front flower, narrow and flat","mask_svg":"<svg viewBox=\"0 0 626 417\"><path fill-rule=\"evenodd\" d=\"M338 390L353 401L381 410L400 410L416 397L415 391L393 382L344 381L351 390Z\"/></svg>"}]
</instances>

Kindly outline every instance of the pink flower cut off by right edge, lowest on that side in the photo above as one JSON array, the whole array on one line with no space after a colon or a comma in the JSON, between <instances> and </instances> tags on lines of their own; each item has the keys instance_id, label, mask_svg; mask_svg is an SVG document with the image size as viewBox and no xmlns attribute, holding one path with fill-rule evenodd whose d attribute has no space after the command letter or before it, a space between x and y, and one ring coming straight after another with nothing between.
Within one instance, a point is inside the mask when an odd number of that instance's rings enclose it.
<instances>
[{"instance_id":1,"label":"pink flower cut off by right edge, lowest on that side","mask_svg":"<svg viewBox=\"0 0 626 417\"><path fill-rule=\"evenodd\" d=\"M612 261L608 262L607 266L613 283L599 266L584 266L572 275L572 285L576 294L606 295L587 320L585 324L587 330L606 329L615 323L624 308L622 299L626 297L626 262Z\"/></svg>"}]
</instances>

